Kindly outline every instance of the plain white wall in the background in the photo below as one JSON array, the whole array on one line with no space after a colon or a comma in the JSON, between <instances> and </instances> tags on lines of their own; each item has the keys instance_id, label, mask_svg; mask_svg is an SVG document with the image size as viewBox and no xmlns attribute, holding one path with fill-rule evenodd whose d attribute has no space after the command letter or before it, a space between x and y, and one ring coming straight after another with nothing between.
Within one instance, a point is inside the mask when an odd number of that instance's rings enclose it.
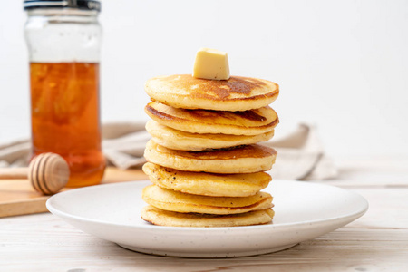
<instances>
[{"instance_id":1,"label":"plain white wall in the background","mask_svg":"<svg viewBox=\"0 0 408 272\"><path fill-rule=\"evenodd\" d=\"M23 1L0 6L0 142L29 137ZM277 136L318 126L332 155L408 154L408 1L104 0L102 122L147 120L143 83L199 47L277 82Z\"/></svg>"}]
</instances>

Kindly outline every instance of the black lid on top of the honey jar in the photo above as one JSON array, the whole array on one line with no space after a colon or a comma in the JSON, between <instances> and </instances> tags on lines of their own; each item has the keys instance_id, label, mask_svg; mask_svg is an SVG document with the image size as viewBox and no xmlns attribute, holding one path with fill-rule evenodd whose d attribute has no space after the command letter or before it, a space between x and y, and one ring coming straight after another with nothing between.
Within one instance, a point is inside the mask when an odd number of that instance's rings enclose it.
<instances>
[{"instance_id":1,"label":"black lid on top of the honey jar","mask_svg":"<svg viewBox=\"0 0 408 272\"><path fill-rule=\"evenodd\" d=\"M101 11L101 2L95 0L24 0L24 10L34 8L77 8Z\"/></svg>"}]
</instances>

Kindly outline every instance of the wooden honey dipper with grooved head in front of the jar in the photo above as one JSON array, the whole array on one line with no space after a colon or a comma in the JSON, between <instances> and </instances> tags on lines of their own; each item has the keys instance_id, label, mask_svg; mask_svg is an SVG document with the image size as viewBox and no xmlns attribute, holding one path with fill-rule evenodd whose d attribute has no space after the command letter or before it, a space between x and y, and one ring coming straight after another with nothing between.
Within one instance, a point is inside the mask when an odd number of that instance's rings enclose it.
<instances>
[{"instance_id":1,"label":"wooden honey dipper with grooved head in front of the jar","mask_svg":"<svg viewBox=\"0 0 408 272\"><path fill-rule=\"evenodd\" d=\"M38 192L52 195L68 182L70 169L63 157L42 153L31 160L28 168L0 168L0 179L27 179Z\"/></svg>"}]
</instances>

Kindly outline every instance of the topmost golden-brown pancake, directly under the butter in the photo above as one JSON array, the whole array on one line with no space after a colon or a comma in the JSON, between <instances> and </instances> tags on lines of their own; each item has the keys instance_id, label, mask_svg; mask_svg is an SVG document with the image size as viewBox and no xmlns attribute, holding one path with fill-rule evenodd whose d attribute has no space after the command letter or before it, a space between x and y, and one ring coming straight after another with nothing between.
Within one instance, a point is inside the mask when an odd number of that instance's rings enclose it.
<instances>
[{"instance_id":1,"label":"topmost golden-brown pancake, directly under the butter","mask_svg":"<svg viewBox=\"0 0 408 272\"><path fill-rule=\"evenodd\" d=\"M258 109L274 102L279 86L241 76L215 81L175 74L151 78L145 84L145 91L151 100L175 108L235 112Z\"/></svg>"}]
</instances>

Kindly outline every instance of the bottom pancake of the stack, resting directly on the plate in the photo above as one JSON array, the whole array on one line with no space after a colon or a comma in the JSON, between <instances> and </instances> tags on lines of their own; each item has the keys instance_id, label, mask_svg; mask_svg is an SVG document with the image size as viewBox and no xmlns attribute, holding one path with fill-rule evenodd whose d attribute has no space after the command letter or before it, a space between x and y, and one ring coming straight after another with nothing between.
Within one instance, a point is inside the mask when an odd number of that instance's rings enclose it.
<instances>
[{"instance_id":1,"label":"bottom pancake of the stack, resting directly on the plate","mask_svg":"<svg viewBox=\"0 0 408 272\"><path fill-rule=\"evenodd\" d=\"M179 213L147 206L141 209L141 219L151 224L168 227L238 227L267 224L272 221L272 209L249 211L233 215Z\"/></svg>"}]
</instances>

